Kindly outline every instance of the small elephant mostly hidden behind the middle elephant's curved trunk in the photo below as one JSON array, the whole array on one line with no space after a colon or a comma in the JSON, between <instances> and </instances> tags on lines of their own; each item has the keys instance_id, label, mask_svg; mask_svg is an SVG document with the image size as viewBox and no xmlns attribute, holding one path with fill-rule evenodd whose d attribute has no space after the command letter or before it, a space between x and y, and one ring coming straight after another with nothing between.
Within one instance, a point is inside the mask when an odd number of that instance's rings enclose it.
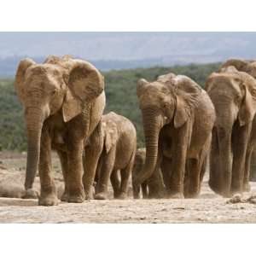
<instances>
[{"instance_id":1,"label":"small elephant mostly hidden behind the middle elephant's curved trunk","mask_svg":"<svg viewBox=\"0 0 256 256\"><path fill-rule=\"evenodd\" d=\"M141 187L136 187L135 180L137 175L142 172L143 165L145 164L146 159L146 148L137 148L135 155L134 166L132 170L132 189L133 189L133 198L140 198L140 190L142 189L143 199L148 198L162 198L165 197L165 185L163 182L162 174L159 172L155 173L155 176L149 177L145 180Z\"/></svg>"}]
</instances>

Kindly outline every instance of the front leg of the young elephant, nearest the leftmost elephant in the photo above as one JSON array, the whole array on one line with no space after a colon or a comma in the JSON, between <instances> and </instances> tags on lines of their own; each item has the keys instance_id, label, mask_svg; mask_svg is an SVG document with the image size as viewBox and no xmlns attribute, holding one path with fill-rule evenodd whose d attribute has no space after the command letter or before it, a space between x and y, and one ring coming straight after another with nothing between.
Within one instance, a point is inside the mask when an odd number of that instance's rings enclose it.
<instances>
[{"instance_id":1,"label":"front leg of the young elephant, nearest the leftmost elephant","mask_svg":"<svg viewBox=\"0 0 256 256\"><path fill-rule=\"evenodd\" d=\"M108 181L113 172L114 158L115 148L111 148L108 154L105 151L102 152L102 169L95 195L96 200L106 200L108 198Z\"/></svg>"}]
</instances>

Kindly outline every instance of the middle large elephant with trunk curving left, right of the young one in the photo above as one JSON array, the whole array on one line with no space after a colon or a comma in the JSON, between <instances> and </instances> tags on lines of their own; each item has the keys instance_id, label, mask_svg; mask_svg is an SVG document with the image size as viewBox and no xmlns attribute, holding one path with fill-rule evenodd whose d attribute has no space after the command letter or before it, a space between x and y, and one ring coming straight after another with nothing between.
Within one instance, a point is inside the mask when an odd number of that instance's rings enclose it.
<instances>
[{"instance_id":1,"label":"middle large elephant with trunk curving left, right of the young one","mask_svg":"<svg viewBox=\"0 0 256 256\"><path fill-rule=\"evenodd\" d=\"M200 193L215 110L207 92L183 75L168 73L154 82L137 82L143 115L146 160L135 180L142 184L161 167L168 198ZM184 188L186 165L187 185Z\"/></svg>"}]
</instances>

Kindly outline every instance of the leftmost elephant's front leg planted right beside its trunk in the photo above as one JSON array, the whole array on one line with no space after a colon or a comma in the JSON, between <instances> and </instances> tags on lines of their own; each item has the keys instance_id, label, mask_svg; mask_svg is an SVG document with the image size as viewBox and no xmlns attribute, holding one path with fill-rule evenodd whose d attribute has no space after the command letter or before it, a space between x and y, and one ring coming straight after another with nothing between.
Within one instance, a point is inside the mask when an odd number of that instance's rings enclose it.
<instances>
[{"instance_id":1,"label":"leftmost elephant's front leg planted right beside its trunk","mask_svg":"<svg viewBox=\"0 0 256 256\"><path fill-rule=\"evenodd\" d=\"M51 140L49 131L43 129L41 135L41 148L39 158L39 176L41 193L38 204L40 206L55 206L59 200L55 188L55 182L51 166Z\"/></svg>"}]
</instances>

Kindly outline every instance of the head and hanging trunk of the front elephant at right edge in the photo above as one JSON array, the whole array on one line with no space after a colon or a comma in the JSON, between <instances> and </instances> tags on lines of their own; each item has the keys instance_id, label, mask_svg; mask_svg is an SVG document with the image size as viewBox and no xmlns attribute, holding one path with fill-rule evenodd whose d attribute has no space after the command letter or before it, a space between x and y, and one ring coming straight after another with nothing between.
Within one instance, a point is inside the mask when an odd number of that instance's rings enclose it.
<instances>
[{"instance_id":1,"label":"head and hanging trunk of the front elephant at right edge","mask_svg":"<svg viewBox=\"0 0 256 256\"><path fill-rule=\"evenodd\" d=\"M218 140L219 169L224 177L220 181L219 192L229 195L232 131L235 123L243 126L253 120L256 113L256 80L247 73L236 71L235 67L223 67L220 73L212 73L207 79L206 90L217 115L213 135L216 134Z\"/></svg>"}]
</instances>

